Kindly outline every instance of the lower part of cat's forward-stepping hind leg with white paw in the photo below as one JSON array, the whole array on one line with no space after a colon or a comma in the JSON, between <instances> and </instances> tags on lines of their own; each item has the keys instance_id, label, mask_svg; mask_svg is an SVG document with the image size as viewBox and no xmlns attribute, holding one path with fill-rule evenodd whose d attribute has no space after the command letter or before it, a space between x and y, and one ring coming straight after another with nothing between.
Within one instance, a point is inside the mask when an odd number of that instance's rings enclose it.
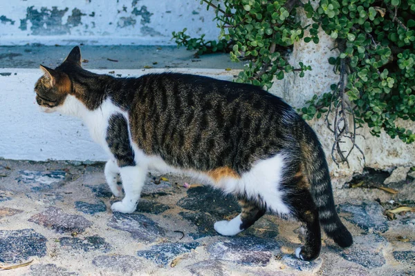
<instances>
[{"instance_id":1,"label":"lower part of cat's forward-stepping hind leg with white paw","mask_svg":"<svg viewBox=\"0 0 415 276\"><path fill-rule=\"evenodd\" d=\"M239 200L242 212L230 221L222 220L214 224L214 230L224 236L233 236L246 230L265 214L266 209L260 207L255 201Z\"/></svg>"}]
</instances>

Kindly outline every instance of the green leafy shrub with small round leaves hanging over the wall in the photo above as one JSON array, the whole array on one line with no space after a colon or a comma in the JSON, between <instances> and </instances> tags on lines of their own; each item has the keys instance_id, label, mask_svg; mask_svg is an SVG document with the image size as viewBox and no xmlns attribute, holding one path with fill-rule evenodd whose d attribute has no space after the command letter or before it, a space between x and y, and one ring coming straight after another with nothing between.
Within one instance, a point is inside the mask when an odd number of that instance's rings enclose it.
<instances>
[{"instance_id":1,"label":"green leafy shrub with small round leaves hanging over the wall","mask_svg":"<svg viewBox=\"0 0 415 276\"><path fill-rule=\"evenodd\" d=\"M238 82L270 88L274 79L290 72L304 77L311 67L302 62L291 65L286 59L295 41L319 43L319 28L335 39L339 54L333 52L328 62L340 80L300 111L304 119L335 115L334 121L329 122L328 116L326 120L340 161L347 161L350 152L344 155L339 143L349 138L357 147L356 128L363 125L375 136L385 130L407 144L415 141L411 130L396 125L399 118L415 121L415 0L321 0L314 8L311 2L303 5L298 0L201 3L216 12L219 42L191 39L185 30L173 37L198 55L225 51L232 61L248 60ZM314 23L304 26L296 17L298 9Z\"/></svg>"}]
</instances>

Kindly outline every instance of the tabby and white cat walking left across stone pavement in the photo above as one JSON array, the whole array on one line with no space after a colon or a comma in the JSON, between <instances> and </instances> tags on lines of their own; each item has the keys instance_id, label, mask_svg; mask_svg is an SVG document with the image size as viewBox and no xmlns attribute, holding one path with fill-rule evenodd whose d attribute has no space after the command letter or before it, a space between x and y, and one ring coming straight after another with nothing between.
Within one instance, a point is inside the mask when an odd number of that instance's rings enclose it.
<instances>
[{"instance_id":1,"label":"tabby and white cat walking left across stone pavement","mask_svg":"<svg viewBox=\"0 0 415 276\"><path fill-rule=\"evenodd\" d=\"M113 212L133 213L147 169L184 172L235 195L241 213L218 221L237 235L267 211L306 228L299 259L320 255L320 226L341 247L353 238L335 211L329 168L315 132L258 86L173 72L116 78L81 66L79 47L35 85L44 112L80 117L111 157L104 175Z\"/></svg>"}]
</instances>

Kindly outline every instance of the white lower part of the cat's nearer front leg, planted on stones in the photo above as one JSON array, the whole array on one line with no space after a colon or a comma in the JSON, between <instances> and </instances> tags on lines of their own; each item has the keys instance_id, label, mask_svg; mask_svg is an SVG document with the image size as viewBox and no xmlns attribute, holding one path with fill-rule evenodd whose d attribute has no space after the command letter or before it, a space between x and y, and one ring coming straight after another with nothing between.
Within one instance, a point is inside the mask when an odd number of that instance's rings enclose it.
<instances>
[{"instance_id":1,"label":"white lower part of the cat's nearer front leg, planted on stones","mask_svg":"<svg viewBox=\"0 0 415 276\"><path fill-rule=\"evenodd\" d=\"M113 212L133 213L140 199L142 186L145 183L147 170L140 166L125 166L120 168L124 199L111 206Z\"/></svg>"}]
</instances>

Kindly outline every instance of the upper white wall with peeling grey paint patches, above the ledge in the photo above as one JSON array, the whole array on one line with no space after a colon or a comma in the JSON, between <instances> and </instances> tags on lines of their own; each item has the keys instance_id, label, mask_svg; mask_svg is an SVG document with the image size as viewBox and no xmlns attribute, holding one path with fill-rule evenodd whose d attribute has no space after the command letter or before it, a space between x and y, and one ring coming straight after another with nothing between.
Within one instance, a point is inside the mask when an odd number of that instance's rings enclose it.
<instances>
[{"instance_id":1,"label":"upper white wall with peeling grey paint patches, above the ledge","mask_svg":"<svg viewBox=\"0 0 415 276\"><path fill-rule=\"evenodd\" d=\"M0 45L166 45L173 31L219 34L199 0L0 1Z\"/></svg>"}]
</instances>

